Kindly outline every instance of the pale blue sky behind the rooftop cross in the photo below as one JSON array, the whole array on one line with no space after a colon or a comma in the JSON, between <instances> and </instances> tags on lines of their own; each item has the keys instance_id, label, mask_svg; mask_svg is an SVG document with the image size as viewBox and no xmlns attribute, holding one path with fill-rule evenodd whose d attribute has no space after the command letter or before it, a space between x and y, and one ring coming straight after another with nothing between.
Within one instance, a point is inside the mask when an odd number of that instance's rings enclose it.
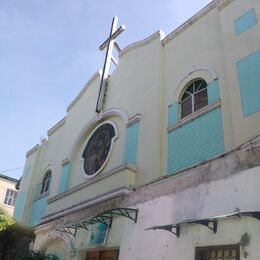
<instances>
[{"instance_id":1,"label":"pale blue sky behind the rooftop cross","mask_svg":"<svg viewBox=\"0 0 260 260\"><path fill-rule=\"evenodd\" d=\"M98 69L114 15L121 48L169 34L210 0L1 0L0 173L19 178L25 153L66 115Z\"/></svg>"}]
</instances>

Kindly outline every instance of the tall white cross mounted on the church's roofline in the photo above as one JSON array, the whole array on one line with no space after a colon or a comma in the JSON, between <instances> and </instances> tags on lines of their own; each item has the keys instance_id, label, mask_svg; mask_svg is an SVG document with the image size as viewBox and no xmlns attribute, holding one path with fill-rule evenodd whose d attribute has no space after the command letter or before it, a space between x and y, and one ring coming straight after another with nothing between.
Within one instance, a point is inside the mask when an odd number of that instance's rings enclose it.
<instances>
[{"instance_id":1,"label":"tall white cross mounted on the church's roofline","mask_svg":"<svg viewBox=\"0 0 260 260\"><path fill-rule=\"evenodd\" d=\"M96 112L99 113L103 109L104 105L104 98L105 98L105 92L106 92L106 80L108 78L109 68L111 61L117 66L118 62L113 56L113 47L115 46L116 50L120 52L120 48L115 42L116 37L121 34L125 30L125 26L121 25L118 29L117 27L117 21L118 18L115 16L112 20L110 35L106 41L104 41L103 44L100 45L99 50L103 51L105 48L107 48L106 51L106 58L103 66L102 76L101 76L101 82L99 87L99 93L98 93L98 100L96 105Z\"/></svg>"}]
</instances>

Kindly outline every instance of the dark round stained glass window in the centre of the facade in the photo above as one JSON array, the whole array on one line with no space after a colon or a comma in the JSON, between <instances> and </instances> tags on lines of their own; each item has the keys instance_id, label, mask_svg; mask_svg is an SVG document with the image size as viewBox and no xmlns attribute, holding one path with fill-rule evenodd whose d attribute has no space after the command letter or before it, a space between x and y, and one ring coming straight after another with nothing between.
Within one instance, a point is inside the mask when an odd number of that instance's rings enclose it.
<instances>
[{"instance_id":1,"label":"dark round stained glass window in the centre of the facade","mask_svg":"<svg viewBox=\"0 0 260 260\"><path fill-rule=\"evenodd\" d=\"M115 136L115 128L111 123L105 123L94 130L82 153L83 169L87 176L93 177L102 169Z\"/></svg>"}]
</instances>

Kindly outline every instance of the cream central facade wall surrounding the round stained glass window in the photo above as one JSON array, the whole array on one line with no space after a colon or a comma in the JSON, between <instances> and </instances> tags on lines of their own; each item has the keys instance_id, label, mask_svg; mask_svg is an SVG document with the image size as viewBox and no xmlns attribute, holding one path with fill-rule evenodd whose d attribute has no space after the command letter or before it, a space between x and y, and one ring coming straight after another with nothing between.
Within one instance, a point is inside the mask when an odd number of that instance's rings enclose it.
<instances>
[{"instance_id":1,"label":"cream central facade wall surrounding the round stained glass window","mask_svg":"<svg viewBox=\"0 0 260 260\"><path fill-rule=\"evenodd\" d=\"M117 70L109 78L104 111L118 109L128 118L141 113L137 159L138 174L133 176L133 173L121 172L104 179L92 187L88 186L85 190L51 203L46 214L66 208L68 203L69 205L77 204L87 198L105 193L105 191L108 192L122 186L143 185L162 174L159 169L162 125L160 123L161 48L160 35L158 34L149 44L124 54ZM49 197L57 195L62 171L61 162L66 158L72 163L72 177L69 187L73 188L88 181L82 171L81 155L90 133L100 122L105 120L115 122L118 138L114 142L109 161L99 176L124 163L127 121L118 115L111 115L98 122L99 115L95 113L98 91L99 77L96 77L85 93L69 109L65 125L51 134L48 140L41 144L39 150L33 154L35 156L32 160L34 161L34 163L32 162L34 164L34 177L31 179L31 183L40 182L46 170L52 170ZM135 100L135 103L132 100Z\"/></svg>"}]
</instances>

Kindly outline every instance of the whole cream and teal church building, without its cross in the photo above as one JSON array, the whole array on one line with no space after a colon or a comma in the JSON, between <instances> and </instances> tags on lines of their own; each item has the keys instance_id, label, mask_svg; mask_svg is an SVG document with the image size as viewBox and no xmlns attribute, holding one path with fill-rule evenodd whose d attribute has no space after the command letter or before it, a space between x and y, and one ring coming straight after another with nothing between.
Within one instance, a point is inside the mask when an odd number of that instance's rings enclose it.
<instances>
[{"instance_id":1,"label":"whole cream and teal church building, without its cross","mask_svg":"<svg viewBox=\"0 0 260 260\"><path fill-rule=\"evenodd\" d=\"M15 217L60 259L260 257L260 1L123 49L27 153Z\"/></svg>"}]
</instances>

